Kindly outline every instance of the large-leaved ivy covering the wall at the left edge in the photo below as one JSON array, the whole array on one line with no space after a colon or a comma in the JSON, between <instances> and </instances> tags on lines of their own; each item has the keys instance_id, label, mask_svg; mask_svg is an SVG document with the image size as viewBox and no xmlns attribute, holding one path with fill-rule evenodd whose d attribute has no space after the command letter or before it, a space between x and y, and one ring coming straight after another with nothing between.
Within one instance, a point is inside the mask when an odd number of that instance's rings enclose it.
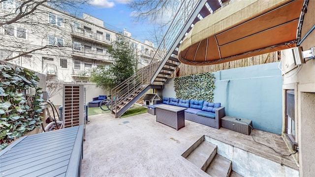
<instances>
[{"instance_id":1,"label":"large-leaved ivy covering the wall at the left edge","mask_svg":"<svg viewBox=\"0 0 315 177\"><path fill-rule=\"evenodd\" d=\"M26 68L0 64L0 149L41 126L38 81L37 75ZM36 90L35 96L23 95L28 88Z\"/></svg>"}]
</instances>

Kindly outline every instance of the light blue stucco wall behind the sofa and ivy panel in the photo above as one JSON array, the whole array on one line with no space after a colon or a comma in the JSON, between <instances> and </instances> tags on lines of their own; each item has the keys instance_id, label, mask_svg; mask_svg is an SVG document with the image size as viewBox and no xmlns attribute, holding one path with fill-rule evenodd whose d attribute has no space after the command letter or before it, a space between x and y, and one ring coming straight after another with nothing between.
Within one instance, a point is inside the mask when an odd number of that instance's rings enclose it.
<instances>
[{"instance_id":1,"label":"light blue stucco wall behind the sofa and ivy panel","mask_svg":"<svg viewBox=\"0 0 315 177\"><path fill-rule=\"evenodd\" d=\"M225 115L252 120L253 128L282 133L282 76L279 62L214 72L214 102L225 107ZM158 92L175 97L174 79Z\"/></svg>"}]
</instances>

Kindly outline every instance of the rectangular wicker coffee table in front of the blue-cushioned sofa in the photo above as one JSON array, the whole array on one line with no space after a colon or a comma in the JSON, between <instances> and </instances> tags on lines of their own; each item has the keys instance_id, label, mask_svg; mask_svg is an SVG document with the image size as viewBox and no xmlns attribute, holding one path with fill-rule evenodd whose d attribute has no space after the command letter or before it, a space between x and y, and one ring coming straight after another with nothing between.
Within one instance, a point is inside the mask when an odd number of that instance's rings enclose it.
<instances>
[{"instance_id":1,"label":"rectangular wicker coffee table in front of the blue-cushioned sofa","mask_svg":"<svg viewBox=\"0 0 315 177\"><path fill-rule=\"evenodd\" d=\"M185 126L184 110L187 108L172 105L158 105L155 107L157 109L157 122L164 123L176 130Z\"/></svg>"}]
</instances>

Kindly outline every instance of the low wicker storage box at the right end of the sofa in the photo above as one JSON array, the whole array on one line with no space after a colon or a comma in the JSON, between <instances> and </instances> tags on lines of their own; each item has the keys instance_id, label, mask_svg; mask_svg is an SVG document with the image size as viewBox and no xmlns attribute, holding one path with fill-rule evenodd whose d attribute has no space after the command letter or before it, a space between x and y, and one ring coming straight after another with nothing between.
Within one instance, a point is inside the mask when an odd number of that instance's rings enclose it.
<instances>
[{"instance_id":1,"label":"low wicker storage box at the right end of the sofa","mask_svg":"<svg viewBox=\"0 0 315 177\"><path fill-rule=\"evenodd\" d=\"M241 120L237 120L241 119ZM221 125L223 128L233 130L246 135L251 134L252 120L246 118L236 118L232 116L225 116L221 118ZM251 126L249 126L251 125Z\"/></svg>"}]
</instances>

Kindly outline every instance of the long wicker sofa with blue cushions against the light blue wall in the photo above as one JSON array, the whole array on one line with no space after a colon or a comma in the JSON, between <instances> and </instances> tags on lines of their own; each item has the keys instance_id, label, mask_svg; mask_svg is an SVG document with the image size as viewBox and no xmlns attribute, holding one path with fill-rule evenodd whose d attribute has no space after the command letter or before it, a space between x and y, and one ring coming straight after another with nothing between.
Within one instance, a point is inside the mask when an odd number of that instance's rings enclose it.
<instances>
[{"instance_id":1,"label":"long wicker sofa with blue cushions against the light blue wall","mask_svg":"<svg viewBox=\"0 0 315 177\"><path fill-rule=\"evenodd\" d=\"M221 107L221 103L168 97L157 101L155 105L148 106L148 113L156 115L155 106L161 104L185 107L187 108L185 110L185 119L217 129L221 127L221 118L225 116L224 107Z\"/></svg>"}]
</instances>

